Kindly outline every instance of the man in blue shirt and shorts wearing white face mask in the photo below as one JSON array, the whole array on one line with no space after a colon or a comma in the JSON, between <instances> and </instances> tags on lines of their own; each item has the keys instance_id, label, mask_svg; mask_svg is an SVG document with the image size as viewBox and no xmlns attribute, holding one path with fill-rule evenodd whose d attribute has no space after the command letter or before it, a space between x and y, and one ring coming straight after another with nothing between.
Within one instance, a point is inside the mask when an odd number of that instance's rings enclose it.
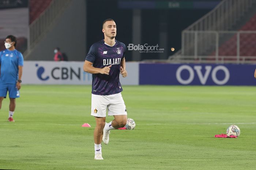
<instances>
[{"instance_id":1,"label":"man in blue shirt and shorts wearing white face mask","mask_svg":"<svg viewBox=\"0 0 256 170\"><path fill-rule=\"evenodd\" d=\"M9 92L9 122L14 122L12 118L16 106L15 98L19 98L21 87L21 76L23 68L23 56L15 49L17 39L13 35L5 38L5 48L0 52L0 109L2 101Z\"/></svg>"}]
</instances>

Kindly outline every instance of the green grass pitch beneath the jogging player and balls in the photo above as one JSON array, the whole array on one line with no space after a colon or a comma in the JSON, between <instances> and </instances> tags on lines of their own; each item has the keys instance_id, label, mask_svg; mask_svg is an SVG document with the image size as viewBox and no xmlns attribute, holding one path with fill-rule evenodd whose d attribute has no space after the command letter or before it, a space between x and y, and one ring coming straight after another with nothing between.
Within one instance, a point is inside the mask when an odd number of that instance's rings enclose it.
<instances>
[{"instance_id":1,"label":"green grass pitch beneath the jogging player and balls","mask_svg":"<svg viewBox=\"0 0 256 170\"><path fill-rule=\"evenodd\" d=\"M0 169L255 170L256 87L123 88L136 127L112 130L104 160L94 160L91 86L23 85L15 122L8 98L0 110ZM214 137L231 124L237 139Z\"/></svg>"}]
</instances>

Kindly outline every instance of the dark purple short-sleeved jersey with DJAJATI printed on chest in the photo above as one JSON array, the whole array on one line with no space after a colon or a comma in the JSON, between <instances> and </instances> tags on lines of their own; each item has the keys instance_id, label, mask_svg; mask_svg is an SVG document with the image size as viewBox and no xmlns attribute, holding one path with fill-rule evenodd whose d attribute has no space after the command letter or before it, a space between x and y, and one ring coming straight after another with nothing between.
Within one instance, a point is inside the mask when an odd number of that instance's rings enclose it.
<instances>
[{"instance_id":1,"label":"dark purple short-sleeved jersey with DJAJATI printed on chest","mask_svg":"<svg viewBox=\"0 0 256 170\"><path fill-rule=\"evenodd\" d=\"M109 75L93 74L92 94L110 95L123 91L119 81L120 63L124 58L126 47L122 42L116 40L114 46L105 44L104 40L94 43L85 60L93 63L95 68L110 67Z\"/></svg>"}]
</instances>

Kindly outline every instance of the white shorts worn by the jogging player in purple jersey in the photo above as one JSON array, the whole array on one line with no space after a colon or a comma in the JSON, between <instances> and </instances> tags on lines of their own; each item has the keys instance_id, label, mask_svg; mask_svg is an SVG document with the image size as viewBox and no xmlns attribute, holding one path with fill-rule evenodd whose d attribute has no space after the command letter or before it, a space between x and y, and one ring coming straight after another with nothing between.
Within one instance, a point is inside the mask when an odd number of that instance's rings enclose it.
<instances>
[{"instance_id":1,"label":"white shorts worn by the jogging player in purple jersey","mask_svg":"<svg viewBox=\"0 0 256 170\"><path fill-rule=\"evenodd\" d=\"M123 97L120 93L111 95L91 94L91 115L95 117L127 115Z\"/></svg>"}]
</instances>

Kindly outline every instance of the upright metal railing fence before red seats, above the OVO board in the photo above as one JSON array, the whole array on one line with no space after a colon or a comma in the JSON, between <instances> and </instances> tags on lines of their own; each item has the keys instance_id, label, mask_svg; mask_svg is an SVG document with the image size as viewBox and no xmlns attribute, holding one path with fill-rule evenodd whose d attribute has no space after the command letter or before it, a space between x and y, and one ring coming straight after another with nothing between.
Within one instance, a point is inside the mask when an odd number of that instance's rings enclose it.
<instances>
[{"instance_id":1,"label":"upright metal railing fence before red seats, above the OVO board","mask_svg":"<svg viewBox=\"0 0 256 170\"><path fill-rule=\"evenodd\" d=\"M201 63L255 63L256 31L183 31L183 50L169 61ZM209 38L211 37L211 38ZM220 38L222 37L222 38ZM206 43L211 41L210 43ZM207 51L205 50L207 49ZM193 61L192 61L193 60Z\"/></svg>"}]
</instances>

